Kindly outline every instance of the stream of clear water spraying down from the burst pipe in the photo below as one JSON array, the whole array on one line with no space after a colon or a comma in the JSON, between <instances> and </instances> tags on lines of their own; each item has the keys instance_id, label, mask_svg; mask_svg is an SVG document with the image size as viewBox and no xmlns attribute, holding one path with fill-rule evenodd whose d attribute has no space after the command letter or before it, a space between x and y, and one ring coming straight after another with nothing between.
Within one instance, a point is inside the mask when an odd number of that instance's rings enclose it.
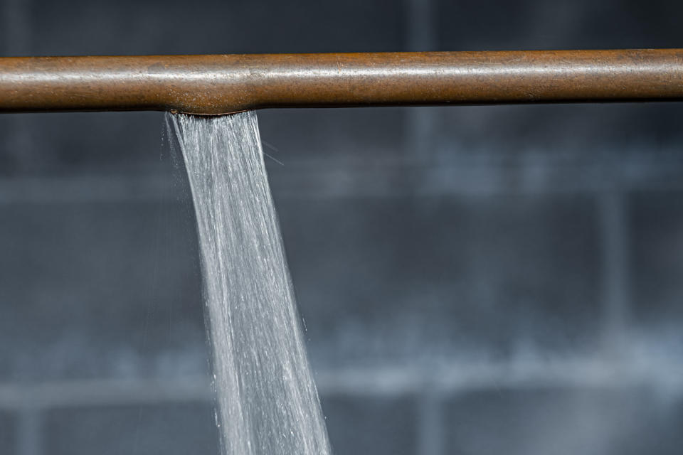
<instances>
[{"instance_id":1,"label":"stream of clear water spraying down from the burst pipe","mask_svg":"<svg viewBox=\"0 0 683 455\"><path fill-rule=\"evenodd\" d=\"M327 455L256 114L169 114L189 175L225 454Z\"/></svg>"}]
</instances>

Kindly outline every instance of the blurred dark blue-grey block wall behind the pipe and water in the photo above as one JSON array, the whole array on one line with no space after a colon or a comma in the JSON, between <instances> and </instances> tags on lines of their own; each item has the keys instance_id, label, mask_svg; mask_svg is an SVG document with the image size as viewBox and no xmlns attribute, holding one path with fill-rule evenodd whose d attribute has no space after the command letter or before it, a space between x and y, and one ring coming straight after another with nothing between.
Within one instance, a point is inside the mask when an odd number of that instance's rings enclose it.
<instances>
[{"instance_id":1,"label":"blurred dark blue-grey block wall behind the pipe and water","mask_svg":"<svg viewBox=\"0 0 683 455\"><path fill-rule=\"evenodd\" d=\"M0 53L681 47L682 13L0 0ZM260 112L335 453L679 454L682 112ZM1 454L217 453L194 219L163 121L0 117Z\"/></svg>"}]
</instances>

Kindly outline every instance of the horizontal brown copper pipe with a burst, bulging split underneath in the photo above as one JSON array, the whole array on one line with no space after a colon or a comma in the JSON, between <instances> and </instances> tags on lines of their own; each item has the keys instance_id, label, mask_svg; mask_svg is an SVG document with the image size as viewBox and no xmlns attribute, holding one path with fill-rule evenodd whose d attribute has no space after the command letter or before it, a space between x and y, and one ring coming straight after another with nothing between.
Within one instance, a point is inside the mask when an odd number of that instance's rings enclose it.
<instances>
[{"instance_id":1,"label":"horizontal brown copper pipe with a burst, bulging split underneath","mask_svg":"<svg viewBox=\"0 0 683 455\"><path fill-rule=\"evenodd\" d=\"M0 112L683 99L683 49L0 58Z\"/></svg>"}]
</instances>

